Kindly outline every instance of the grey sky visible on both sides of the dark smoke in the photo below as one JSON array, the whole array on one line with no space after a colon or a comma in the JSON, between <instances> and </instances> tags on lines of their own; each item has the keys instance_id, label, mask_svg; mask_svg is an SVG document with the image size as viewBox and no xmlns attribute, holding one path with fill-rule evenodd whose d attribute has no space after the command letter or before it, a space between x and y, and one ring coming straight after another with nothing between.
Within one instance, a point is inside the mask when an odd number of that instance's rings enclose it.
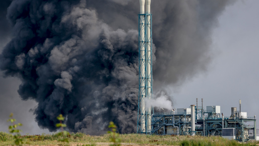
<instances>
[{"instance_id":1,"label":"grey sky visible on both sides of the dark smoke","mask_svg":"<svg viewBox=\"0 0 259 146\"><path fill-rule=\"evenodd\" d=\"M206 71L188 78L181 85L167 86L166 91L173 97L175 108L186 108L196 104L220 105L221 112L225 116L231 115L231 107L239 107L241 99L241 111L248 116L259 116L259 13L256 0L237 1L226 7L218 17L217 27L213 29L210 50L214 58ZM2 23L1 23L2 25ZM10 30L5 25L5 30ZM1 31L1 34L8 31ZM11 35L0 37L0 49L10 41ZM23 134L49 133L47 129L41 129L34 121L33 109L37 103L34 100L21 100L17 90L21 83L17 77L0 77L0 131L8 131L8 115L14 113L14 118L23 123ZM154 83L155 84L155 83ZM188 102L186 102L188 101ZM259 123L257 123L259 126Z\"/></svg>"}]
</instances>

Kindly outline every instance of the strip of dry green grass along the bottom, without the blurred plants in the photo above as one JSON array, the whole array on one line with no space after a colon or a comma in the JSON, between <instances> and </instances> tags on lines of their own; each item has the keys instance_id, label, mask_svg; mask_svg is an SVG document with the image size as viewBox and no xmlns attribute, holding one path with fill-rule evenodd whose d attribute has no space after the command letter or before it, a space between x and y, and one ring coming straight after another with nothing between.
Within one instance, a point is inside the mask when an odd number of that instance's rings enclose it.
<instances>
[{"instance_id":1,"label":"strip of dry green grass along the bottom, without the blurred plants","mask_svg":"<svg viewBox=\"0 0 259 146\"><path fill-rule=\"evenodd\" d=\"M83 146L96 146L100 142L109 142L110 135L90 136L83 133L71 133L67 136L69 143L83 143ZM63 144L59 142L62 137L57 134L23 135L20 136L29 145ZM240 143L235 140L227 140L218 136L172 136L172 135L140 135L119 134L121 143L152 144L152 145L181 145L181 146L254 146L256 142ZM258 142L257 142L258 143ZM0 132L0 145L13 145L14 138L11 134Z\"/></svg>"}]
</instances>

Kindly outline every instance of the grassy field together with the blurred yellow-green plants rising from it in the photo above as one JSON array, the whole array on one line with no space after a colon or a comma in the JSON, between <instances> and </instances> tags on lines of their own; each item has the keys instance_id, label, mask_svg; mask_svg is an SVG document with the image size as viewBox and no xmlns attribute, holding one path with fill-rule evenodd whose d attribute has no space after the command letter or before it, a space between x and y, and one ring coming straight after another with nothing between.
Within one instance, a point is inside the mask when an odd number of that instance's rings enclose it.
<instances>
[{"instance_id":1,"label":"grassy field together with the blurred yellow-green plants rising from it","mask_svg":"<svg viewBox=\"0 0 259 146\"><path fill-rule=\"evenodd\" d=\"M250 141L248 143L240 143L235 140L228 140L219 136L175 136L175 135L144 135L144 134L118 134L117 127L113 122L110 122L108 134L99 136L90 136L84 133L68 133L63 128L66 127L62 123L64 117L59 115L57 119L60 123L56 127L60 127L61 131L56 134L41 135L20 135L21 130L17 129L21 126L20 123L15 124L13 114L10 115L12 123L9 126L9 133L0 132L0 146L5 145L21 145L26 143L29 145L77 145L77 146L97 146L97 145L178 145L178 146L256 146L258 141ZM13 135L12 135L13 134ZM67 142L67 144L60 144L60 142Z\"/></svg>"}]
</instances>

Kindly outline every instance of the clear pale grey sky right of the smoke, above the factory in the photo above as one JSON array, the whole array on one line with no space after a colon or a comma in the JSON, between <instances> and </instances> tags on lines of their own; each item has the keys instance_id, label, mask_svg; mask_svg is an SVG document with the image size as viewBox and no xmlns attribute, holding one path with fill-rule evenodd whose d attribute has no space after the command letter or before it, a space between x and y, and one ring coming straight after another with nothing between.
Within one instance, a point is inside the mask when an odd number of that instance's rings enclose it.
<instances>
[{"instance_id":1,"label":"clear pale grey sky right of the smoke, above the factory","mask_svg":"<svg viewBox=\"0 0 259 146\"><path fill-rule=\"evenodd\" d=\"M203 98L205 106L220 105L221 112L230 116L231 107L239 109L241 99L241 111L259 116L258 4L238 1L219 17L211 45L217 55L207 72L171 92L176 108L196 104L196 98L201 106Z\"/></svg>"}]
</instances>

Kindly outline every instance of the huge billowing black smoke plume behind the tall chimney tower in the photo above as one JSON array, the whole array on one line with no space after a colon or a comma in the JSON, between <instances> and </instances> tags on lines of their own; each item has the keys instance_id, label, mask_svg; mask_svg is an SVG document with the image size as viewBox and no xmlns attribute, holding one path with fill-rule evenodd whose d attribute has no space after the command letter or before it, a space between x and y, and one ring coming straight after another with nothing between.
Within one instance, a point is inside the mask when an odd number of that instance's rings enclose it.
<instances>
[{"instance_id":1,"label":"huge billowing black smoke plume behind the tall chimney tower","mask_svg":"<svg viewBox=\"0 0 259 146\"><path fill-rule=\"evenodd\" d=\"M205 71L213 57L212 28L229 1L152 1L154 89ZM133 0L13 0L13 39L0 56L5 76L17 76L23 100L38 103L35 120L56 130L136 132L138 11ZM160 88L158 88L160 87Z\"/></svg>"}]
</instances>

